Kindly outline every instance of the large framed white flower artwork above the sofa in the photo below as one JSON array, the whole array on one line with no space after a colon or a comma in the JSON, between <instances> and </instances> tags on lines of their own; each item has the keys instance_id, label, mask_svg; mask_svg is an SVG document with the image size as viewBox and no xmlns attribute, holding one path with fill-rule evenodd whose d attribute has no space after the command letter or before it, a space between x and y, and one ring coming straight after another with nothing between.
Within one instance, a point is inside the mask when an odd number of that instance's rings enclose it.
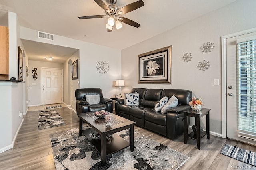
<instances>
[{"instance_id":1,"label":"large framed white flower artwork above the sofa","mask_svg":"<svg viewBox=\"0 0 256 170\"><path fill-rule=\"evenodd\" d=\"M138 55L138 83L171 84L172 46Z\"/></svg>"}]
</instances>

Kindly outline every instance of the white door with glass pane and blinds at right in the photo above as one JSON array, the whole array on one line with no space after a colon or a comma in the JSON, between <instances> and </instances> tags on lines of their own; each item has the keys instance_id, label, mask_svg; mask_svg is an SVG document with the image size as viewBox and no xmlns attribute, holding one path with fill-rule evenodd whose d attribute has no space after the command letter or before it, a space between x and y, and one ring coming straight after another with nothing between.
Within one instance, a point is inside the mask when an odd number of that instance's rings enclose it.
<instances>
[{"instance_id":1,"label":"white door with glass pane and blinds at right","mask_svg":"<svg viewBox=\"0 0 256 170\"><path fill-rule=\"evenodd\" d=\"M226 39L227 138L256 144L256 32ZM255 37L256 38L256 37Z\"/></svg>"}]
</instances>

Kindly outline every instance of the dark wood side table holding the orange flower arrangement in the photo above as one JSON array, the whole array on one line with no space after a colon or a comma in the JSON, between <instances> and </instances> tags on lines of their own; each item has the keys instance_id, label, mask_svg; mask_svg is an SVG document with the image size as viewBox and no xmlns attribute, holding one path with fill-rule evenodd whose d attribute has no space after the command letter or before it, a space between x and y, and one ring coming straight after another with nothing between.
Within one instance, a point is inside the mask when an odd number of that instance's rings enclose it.
<instances>
[{"instance_id":1,"label":"dark wood side table holding the orange flower arrangement","mask_svg":"<svg viewBox=\"0 0 256 170\"><path fill-rule=\"evenodd\" d=\"M207 138L210 139L210 127L209 127L209 113L211 109L202 108L200 111L193 111L192 109L186 109L183 111L184 113L184 143L187 144L188 138L192 138L196 140L197 148L201 148L201 138L207 135ZM201 134L201 117L206 115L206 132L203 131ZM196 134L194 132L191 132L188 134L188 127L187 127L187 116L194 117L195 123L197 127ZM200 135L198 135L200 134Z\"/></svg>"}]
</instances>

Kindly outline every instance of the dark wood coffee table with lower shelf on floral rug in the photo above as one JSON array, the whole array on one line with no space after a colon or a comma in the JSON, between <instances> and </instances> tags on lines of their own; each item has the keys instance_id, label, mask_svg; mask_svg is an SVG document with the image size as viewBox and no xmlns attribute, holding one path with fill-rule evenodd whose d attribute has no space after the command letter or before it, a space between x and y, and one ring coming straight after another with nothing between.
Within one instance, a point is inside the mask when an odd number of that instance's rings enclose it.
<instances>
[{"instance_id":1,"label":"dark wood coffee table with lower shelf on floral rug","mask_svg":"<svg viewBox=\"0 0 256 170\"><path fill-rule=\"evenodd\" d=\"M106 127L104 123L105 118L98 118L94 116L94 112L81 113L79 121L79 136L84 134L84 136L90 141L90 143L100 152L101 156L101 165L106 165L106 156L118 152L124 148L130 146L130 150L134 151L134 124L135 122L109 113L112 115L113 125ZM82 130L83 122L87 123L91 128ZM130 128L130 143L124 140L116 132ZM94 139L90 137L90 133L98 132L101 136L101 139ZM106 138L112 134L110 138Z\"/></svg>"}]
</instances>

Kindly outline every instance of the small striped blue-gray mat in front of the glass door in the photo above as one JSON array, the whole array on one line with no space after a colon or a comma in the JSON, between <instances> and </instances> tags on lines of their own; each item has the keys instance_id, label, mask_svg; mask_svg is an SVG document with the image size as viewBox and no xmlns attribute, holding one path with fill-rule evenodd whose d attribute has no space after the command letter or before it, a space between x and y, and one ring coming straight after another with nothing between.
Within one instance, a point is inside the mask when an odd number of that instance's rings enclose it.
<instances>
[{"instance_id":1,"label":"small striped blue-gray mat in front of the glass door","mask_svg":"<svg viewBox=\"0 0 256 170\"><path fill-rule=\"evenodd\" d=\"M240 160L246 164L256 166L256 153L250 150L245 150L230 144L225 144L221 154Z\"/></svg>"}]
</instances>

